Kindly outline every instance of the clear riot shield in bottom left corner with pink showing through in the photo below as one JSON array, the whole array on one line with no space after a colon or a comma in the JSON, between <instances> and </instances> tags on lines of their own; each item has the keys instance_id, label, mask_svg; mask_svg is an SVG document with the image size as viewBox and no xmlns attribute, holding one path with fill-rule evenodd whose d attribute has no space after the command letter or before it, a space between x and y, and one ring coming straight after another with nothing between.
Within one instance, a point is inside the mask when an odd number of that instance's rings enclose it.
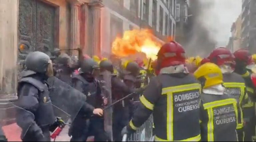
<instances>
[{"instance_id":1,"label":"clear riot shield in bottom left corner with pink showing through","mask_svg":"<svg viewBox=\"0 0 256 142\"><path fill-rule=\"evenodd\" d=\"M0 115L0 141L22 141L33 135L34 114L19 107L18 103L6 104L8 108L1 110Z\"/></svg>"}]
</instances>

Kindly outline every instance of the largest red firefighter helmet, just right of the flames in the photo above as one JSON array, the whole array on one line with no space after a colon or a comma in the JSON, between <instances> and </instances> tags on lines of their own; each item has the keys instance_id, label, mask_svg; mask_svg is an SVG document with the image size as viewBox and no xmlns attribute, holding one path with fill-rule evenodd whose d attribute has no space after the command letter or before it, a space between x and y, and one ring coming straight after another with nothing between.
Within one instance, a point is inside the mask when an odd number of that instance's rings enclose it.
<instances>
[{"instance_id":1,"label":"largest red firefighter helmet, just right of the flames","mask_svg":"<svg viewBox=\"0 0 256 142\"><path fill-rule=\"evenodd\" d=\"M185 64L186 56L183 47L176 41L165 43L157 53L157 69Z\"/></svg>"}]
</instances>

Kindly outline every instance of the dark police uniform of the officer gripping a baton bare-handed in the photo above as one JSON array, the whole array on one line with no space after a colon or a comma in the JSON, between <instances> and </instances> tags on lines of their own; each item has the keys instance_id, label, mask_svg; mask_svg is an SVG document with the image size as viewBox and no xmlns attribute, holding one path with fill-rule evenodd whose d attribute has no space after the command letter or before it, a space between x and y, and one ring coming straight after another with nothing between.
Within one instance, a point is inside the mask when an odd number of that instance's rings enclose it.
<instances>
[{"instance_id":1,"label":"dark police uniform of the officer gripping a baton bare-handed","mask_svg":"<svg viewBox=\"0 0 256 142\"><path fill-rule=\"evenodd\" d=\"M98 81L95 79L84 78L81 74L73 77L73 87L86 95L86 102L95 108L102 108L103 99ZM71 141L86 141L88 136L94 135L95 141L106 141L107 137L104 131L104 120L102 117L90 118L82 110L74 119L70 128Z\"/></svg>"}]
</instances>

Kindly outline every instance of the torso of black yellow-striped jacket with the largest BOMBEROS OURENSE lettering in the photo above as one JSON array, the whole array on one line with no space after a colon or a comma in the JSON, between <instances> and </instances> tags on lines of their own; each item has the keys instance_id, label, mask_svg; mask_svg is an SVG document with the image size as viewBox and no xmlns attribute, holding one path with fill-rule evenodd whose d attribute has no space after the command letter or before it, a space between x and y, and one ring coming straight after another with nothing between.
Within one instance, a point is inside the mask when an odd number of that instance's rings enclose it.
<instances>
[{"instance_id":1,"label":"torso of black yellow-striped jacket with the largest BOMBEROS OURENSE lettering","mask_svg":"<svg viewBox=\"0 0 256 142\"><path fill-rule=\"evenodd\" d=\"M193 77L157 76L162 93L155 103L155 141L200 141L201 85Z\"/></svg>"}]
</instances>

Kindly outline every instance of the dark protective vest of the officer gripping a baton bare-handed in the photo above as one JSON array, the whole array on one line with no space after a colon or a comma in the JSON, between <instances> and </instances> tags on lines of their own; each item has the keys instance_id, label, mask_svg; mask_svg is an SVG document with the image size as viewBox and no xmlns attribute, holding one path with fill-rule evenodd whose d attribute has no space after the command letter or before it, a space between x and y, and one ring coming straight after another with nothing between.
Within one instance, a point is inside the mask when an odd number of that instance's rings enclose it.
<instances>
[{"instance_id":1,"label":"dark protective vest of the officer gripping a baton bare-handed","mask_svg":"<svg viewBox=\"0 0 256 142\"><path fill-rule=\"evenodd\" d=\"M83 91L82 93L86 95L86 102L93 107L99 107L99 100L97 100L97 87L98 87L98 82L95 80L93 82L88 82L84 77L82 77L80 74L75 75L73 78L83 82Z\"/></svg>"}]
</instances>

